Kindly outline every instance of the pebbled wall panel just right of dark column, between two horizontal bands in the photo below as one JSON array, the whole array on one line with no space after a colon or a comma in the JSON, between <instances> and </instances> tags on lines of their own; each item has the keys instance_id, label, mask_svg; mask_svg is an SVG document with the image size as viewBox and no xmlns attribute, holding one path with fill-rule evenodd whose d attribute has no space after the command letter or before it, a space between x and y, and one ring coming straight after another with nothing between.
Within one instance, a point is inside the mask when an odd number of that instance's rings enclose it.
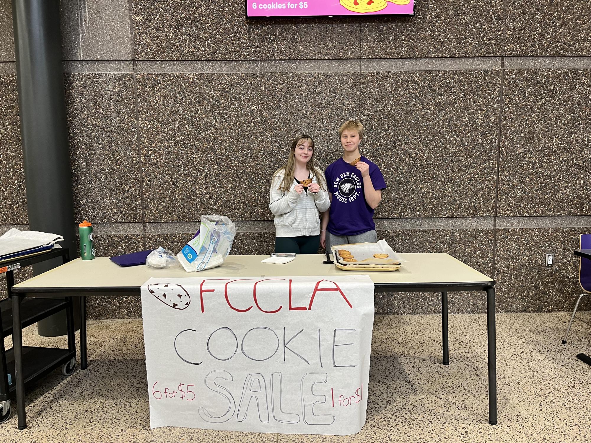
<instances>
[{"instance_id":1,"label":"pebbled wall panel just right of dark column, between two horizontal bands","mask_svg":"<svg viewBox=\"0 0 591 443\"><path fill-rule=\"evenodd\" d=\"M65 80L74 216L140 222L133 74L67 73Z\"/></svg>"}]
</instances>

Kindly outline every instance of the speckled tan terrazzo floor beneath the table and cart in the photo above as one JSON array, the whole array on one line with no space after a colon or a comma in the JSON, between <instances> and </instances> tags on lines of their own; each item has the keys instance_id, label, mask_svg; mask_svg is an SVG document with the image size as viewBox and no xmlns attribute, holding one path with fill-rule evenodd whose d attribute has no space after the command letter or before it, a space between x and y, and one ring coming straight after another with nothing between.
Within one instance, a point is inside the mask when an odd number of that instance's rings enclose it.
<instances>
[{"instance_id":1,"label":"speckled tan terrazzo floor beneath the table and cart","mask_svg":"<svg viewBox=\"0 0 591 443\"><path fill-rule=\"evenodd\" d=\"M497 315L499 424L491 426L484 314L450 315L450 366L440 361L439 315L376 316L367 421L347 437L150 429L141 320L92 321L88 369L70 377L58 369L31 386L28 428L18 431L13 413L0 442L589 442L591 366L575 355L591 354L591 313L580 314L563 346L568 319ZM24 341L65 342L35 327Z\"/></svg>"}]
</instances>

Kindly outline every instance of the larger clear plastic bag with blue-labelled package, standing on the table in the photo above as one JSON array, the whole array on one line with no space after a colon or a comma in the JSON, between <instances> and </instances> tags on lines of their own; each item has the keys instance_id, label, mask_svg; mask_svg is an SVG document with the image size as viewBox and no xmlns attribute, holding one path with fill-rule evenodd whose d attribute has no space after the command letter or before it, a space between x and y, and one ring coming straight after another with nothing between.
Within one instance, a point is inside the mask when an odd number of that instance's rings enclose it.
<instances>
[{"instance_id":1,"label":"larger clear plastic bag with blue-labelled package, standing on the table","mask_svg":"<svg viewBox=\"0 0 591 443\"><path fill-rule=\"evenodd\" d=\"M177 259L187 272L215 268L223 263L234 242L236 225L225 216L201 216L201 226Z\"/></svg>"}]
</instances>

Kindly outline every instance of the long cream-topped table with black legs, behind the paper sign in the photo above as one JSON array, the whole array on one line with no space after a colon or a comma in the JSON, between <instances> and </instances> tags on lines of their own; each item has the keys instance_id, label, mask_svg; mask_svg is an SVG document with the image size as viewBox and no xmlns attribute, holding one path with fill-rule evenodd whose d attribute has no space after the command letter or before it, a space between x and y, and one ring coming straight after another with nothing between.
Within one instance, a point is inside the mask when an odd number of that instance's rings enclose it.
<instances>
[{"instance_id":1,"label":"long cream-topped table with black legs, behind the paper sign","mask_svg":"<svg viewBox=\"0 0 591 443\"><path fill-rule=\"evenodd\" d=\"M486 293L486 317L488 333L488 421L496 425L496 332L495 332L495 281L470 268L460 260L446 253L407 253L399 254L402 263L398 271L364 272L369 275L378 292L441 292L441 329L443 333L443 364L449 364L447 335L447 293L450 291L483 291ZM31 293L63 293L71 297L93 295L139 296L140 287L149 278L187 278L187 277L247 277L247 276L337 276L347 275L335 265L323 263L324 255L298 255L285 265L261 263L264 255L230 255L222 266L201 272L187 273L183 269L151 269L147 266L121 268L107 257L94 260L72 260L58 268L35 276L15 285L12 294L15 299ZM16 296L16 297L15 297ZM15 301L16 303L17 301ZM82 311L84 313L84 304ZM18 314L18 313L17 313ZM84 314L83 314L84 315ZM18 324L20 319L13 319ZM82 369L86 368L86 318L81 319L80 359ZM18 337L17 337L18 338ZM15 340L15 347L22 346ZM16 353L15 353L16 354ZM15 361L17 383L22 383L21 363ZM19 428L26 426L24 400L17 398ZM21 413L22 411L22 413Z\"/></svg>"}]
</instances>

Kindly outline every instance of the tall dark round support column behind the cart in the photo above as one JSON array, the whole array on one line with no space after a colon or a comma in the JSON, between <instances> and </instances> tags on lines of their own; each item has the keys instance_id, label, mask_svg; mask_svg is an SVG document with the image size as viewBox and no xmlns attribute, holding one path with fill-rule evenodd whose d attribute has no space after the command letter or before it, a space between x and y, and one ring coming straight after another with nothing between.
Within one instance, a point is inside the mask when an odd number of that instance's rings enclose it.
<instances>
[{"instance_id":1,"label":"tall dark round support column behind the cart","mask_svg":"<svg viewBox=\"0 0 591 443\"><path fill-rule=\"evenodd\" d=\"M75 255L59 6L59 0L12 0L12 19L29 226L61 234L61 245ZM60 264L47 260L33 265L33 273ZM65 313L41 321L38 330L65 334Z\"/></svg>"}]
</instances>

